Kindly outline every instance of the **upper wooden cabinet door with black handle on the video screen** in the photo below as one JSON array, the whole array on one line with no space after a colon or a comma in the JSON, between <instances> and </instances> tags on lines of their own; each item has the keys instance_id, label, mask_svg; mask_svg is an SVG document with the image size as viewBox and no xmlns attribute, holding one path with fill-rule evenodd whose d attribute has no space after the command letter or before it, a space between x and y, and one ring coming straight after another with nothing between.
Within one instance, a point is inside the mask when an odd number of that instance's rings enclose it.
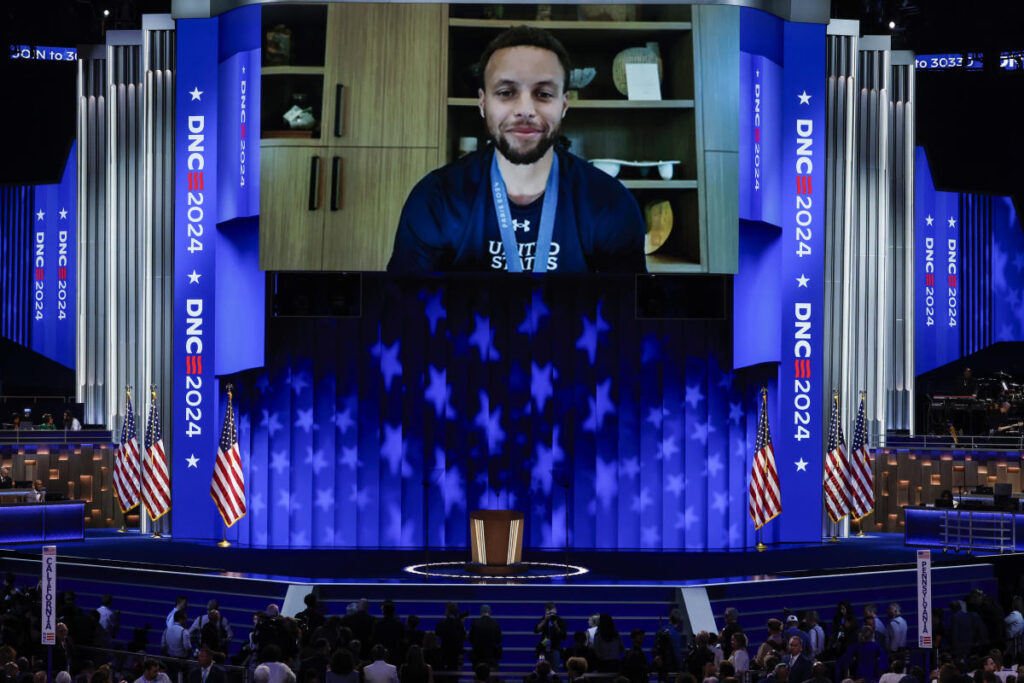
<instances>
[{"instance_id":1,"label":"upper wooden cabinet door with black handle on the video screen","mask_svg":"<svg viewBox=\"0 0 1024 683\"><path fill-rule=\"evenodd\" d=\"M331 5L324 80L328 143L439 146L442 9L429 3Z\"/></svg>"}]
</instances>

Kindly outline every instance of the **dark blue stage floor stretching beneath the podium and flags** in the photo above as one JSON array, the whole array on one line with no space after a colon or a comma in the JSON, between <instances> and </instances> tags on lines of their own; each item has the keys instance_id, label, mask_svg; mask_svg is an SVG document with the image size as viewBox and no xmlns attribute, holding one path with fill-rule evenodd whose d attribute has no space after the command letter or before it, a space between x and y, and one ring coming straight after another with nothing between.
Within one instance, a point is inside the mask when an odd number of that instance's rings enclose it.
<instances>
[{"instance_id":1,"label":"dark blue stage floor stretching beneath the podium and flags","mask_svg":"<svg viewBox=\"0 0 1024 683\"><path fill-rule=\"evenodd\" d=\"M916 548L903 545L902 533L874 533L840 543L779 545L764 552L564 551L524 550L528 562L567 563L587 572L564 578L503 579L503 583L572 583L588 585L711 584L764 579L799 578L821 573L906 568L916 562ZM2 556L39 557L40 547L5 546ZM251 549L218 548L212 543L151 539L137 532L88 530L82 543L57 546L61 562L99 562L200 574L312 583L422 583L423 575L407 571L428 561L423 550ZM431 550L429 561L461 562L468 551ZM982 561L984 554L933 551L936 565ZM1019 556L1024 558L1024 555ZM1009 559L1009 558L1008 558ZM2 561L0 561L2 565ZM430 578L431 583L481 583L465 579Z\"/></svg>"}]
</instances>

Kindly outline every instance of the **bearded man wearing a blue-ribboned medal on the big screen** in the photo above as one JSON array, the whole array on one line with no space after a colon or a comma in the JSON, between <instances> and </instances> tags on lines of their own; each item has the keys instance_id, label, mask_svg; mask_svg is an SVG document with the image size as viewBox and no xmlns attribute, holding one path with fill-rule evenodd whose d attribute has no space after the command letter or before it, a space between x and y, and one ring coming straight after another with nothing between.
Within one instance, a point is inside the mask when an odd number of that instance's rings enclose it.
<instances>
[{"instance_id":1,"label":"bearded man wearing a blue-ribboned medal on the big screen","mask_svg":"<svg viewBox=\"0 0 1024 683\"><path fill-rule=\"evenodd\" d=\"M555 144L568 110L562 44L514 27L490 41L479 63L490 144L413 188L388 270L644 271L636 200Z\"/></svg>"}]
</instances>

